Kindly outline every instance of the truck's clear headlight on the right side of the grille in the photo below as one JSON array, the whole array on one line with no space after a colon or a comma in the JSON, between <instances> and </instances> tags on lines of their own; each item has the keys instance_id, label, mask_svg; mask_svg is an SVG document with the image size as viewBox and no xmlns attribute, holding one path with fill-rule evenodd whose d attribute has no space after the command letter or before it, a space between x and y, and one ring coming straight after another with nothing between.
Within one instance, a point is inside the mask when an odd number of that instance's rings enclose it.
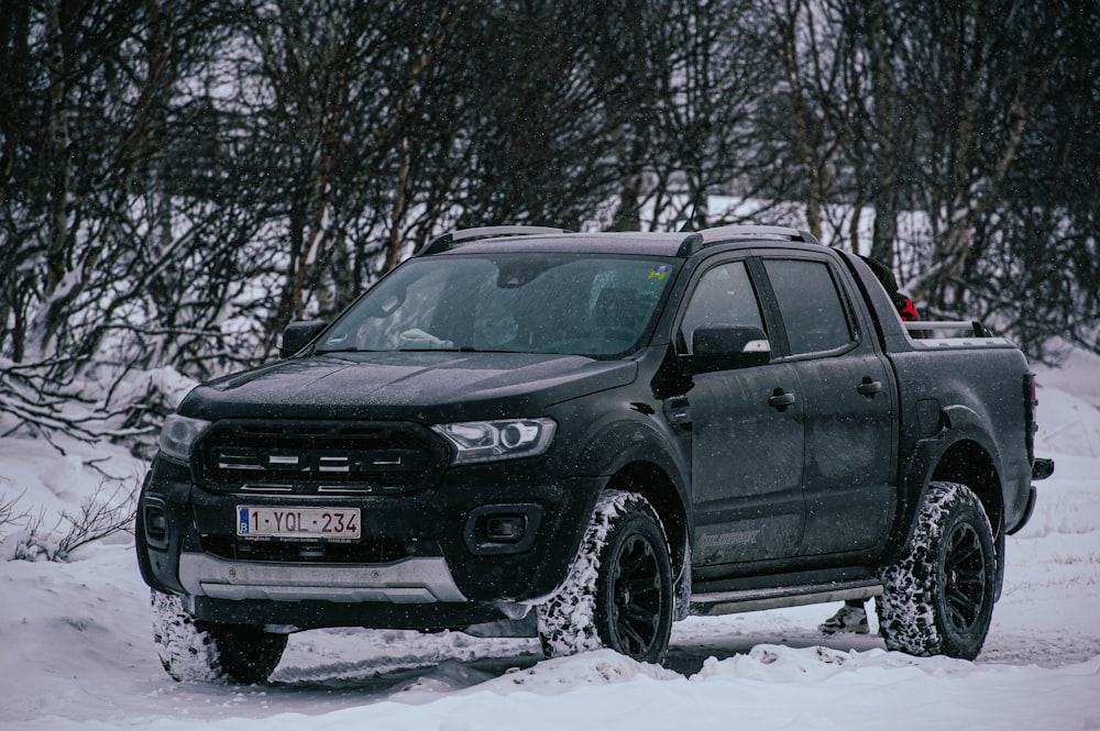
<instances>
[{"instance_id":1,"label":"truck's clear headlight on the right side of the grille","mask_svg":"<svg viewBox=\"0 0 1100 731\"><path fill-rule=\"evenodd\" d=\"M503 419L439 424L432 429L454 445L454 464L469 464L542 454L550 447L557 427L552 419Z\"/></svg>"}]
</instances>

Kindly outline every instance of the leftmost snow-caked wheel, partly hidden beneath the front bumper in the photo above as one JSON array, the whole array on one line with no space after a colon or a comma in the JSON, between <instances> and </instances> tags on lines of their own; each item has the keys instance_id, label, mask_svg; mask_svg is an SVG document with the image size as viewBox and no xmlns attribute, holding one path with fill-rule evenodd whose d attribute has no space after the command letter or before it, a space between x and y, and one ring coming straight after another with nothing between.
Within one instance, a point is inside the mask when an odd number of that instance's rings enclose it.
<instances>
[{"instance_id":1,"label":"leftmost snow-caked wheel, partly hidden beneath the front bumper","mask_svg":"<svg viewBox=\"0 0 1100 731\"><path fill-rule=\"evenodd\" d=\"M287 635L196 621L178 596L154 590L153 640L174 680L253 684L265 682L278 665Z\"/></svg>"}]
</instances>

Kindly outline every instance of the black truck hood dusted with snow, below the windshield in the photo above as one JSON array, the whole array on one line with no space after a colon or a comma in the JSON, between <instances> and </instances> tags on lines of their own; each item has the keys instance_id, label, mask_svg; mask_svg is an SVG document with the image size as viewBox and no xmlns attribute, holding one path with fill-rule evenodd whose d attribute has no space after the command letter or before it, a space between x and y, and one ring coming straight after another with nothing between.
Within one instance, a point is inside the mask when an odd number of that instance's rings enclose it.
<instances>
[{"instance_id":1,"label":"black truck hood dusted with snow, below the windshield","mask_svg":"<svg viewBox=\"0 0 1100 731\"><path fill-rule=\"evenodd\" d=\"M624 386L632 361L527 353L332 353L289 358L197 387L179 413L198 419L377 419L426 423L536 417Z\"/></svg>"}]
</instances>

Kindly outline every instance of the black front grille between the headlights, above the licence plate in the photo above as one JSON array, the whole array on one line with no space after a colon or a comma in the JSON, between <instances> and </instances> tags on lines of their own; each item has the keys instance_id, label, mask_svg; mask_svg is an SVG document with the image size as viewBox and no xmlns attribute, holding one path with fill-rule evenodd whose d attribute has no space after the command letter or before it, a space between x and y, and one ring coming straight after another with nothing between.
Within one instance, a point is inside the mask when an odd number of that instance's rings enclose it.
<instances>
[{"instance_id":1,"label":"black front grille between the headlights, above the licence plate","mask_svg":"<svg viewBox=\"0 0 1100 731\"><path fill-rule=\"evenodd\" d=\"M411 423L219 421L196 450L206 486L262 494L404 494L438 481L448 448Z\"/></svg>"}]
</instances>

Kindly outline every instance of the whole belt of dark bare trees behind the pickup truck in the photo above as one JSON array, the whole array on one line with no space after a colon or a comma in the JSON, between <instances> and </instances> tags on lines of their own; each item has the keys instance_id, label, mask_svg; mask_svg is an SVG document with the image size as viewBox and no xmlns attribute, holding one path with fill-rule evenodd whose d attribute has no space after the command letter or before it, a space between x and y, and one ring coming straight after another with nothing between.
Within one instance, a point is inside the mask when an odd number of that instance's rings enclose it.
<instances>
[{"instance_id":1,"label":"whole belt of dark bare trees behind the pickup truck","mask_svg":"<svg viewBox=\"0 0 1100 731\"><path fill-rule=\"evenodd\" d=\"M287 321L330 317L440 231L505 222L801 219L883 261L906 252L933 313L986 317L1033 353L1054 335L1100 350L1098 15L1074 0L2 3L0 410L124 432L110 394L59 419L73 378L253 365Z\"/></svg>"}]
</instances>

